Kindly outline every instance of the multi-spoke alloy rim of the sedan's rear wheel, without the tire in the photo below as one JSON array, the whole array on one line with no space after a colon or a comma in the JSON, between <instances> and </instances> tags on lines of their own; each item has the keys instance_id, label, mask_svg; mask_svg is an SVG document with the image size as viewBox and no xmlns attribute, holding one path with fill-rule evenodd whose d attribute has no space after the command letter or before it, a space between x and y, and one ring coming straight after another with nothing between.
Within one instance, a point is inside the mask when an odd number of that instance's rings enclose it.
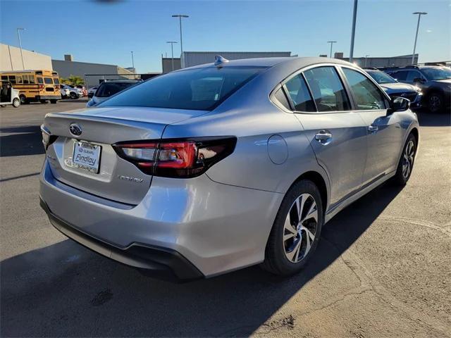
<instances>
[{"instance_id":1,"label":"multi-spoke alloy rim of the sedan's rear wheel, without the tire","mask_svg":"<svg viewBox=\"0 0 451 338\"><path fill-rule=\"evenodd\" d=\"M285 256L299 263L307 256L316 236L318 209L311 194L302 194L293 202L283 227Z\"/></svg>"}]
</instances>

